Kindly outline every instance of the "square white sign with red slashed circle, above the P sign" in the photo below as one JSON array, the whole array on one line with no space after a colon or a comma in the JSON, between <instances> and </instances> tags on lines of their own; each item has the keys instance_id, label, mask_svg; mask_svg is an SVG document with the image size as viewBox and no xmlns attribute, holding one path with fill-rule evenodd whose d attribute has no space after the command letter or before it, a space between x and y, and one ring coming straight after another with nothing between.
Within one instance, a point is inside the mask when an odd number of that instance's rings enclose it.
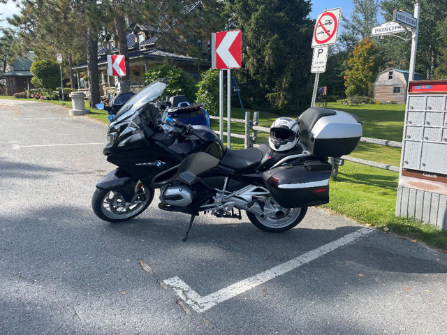
<instances>
[{"instance_id":1,"label":"square white sign with red slashed circle, above the P sign","mask_svg":"<svg viewBox=\"0 0 447 335\"><path fill-rule=\"evenodd\" d=\"M342 8L328 9L318 15L312 38L312 48L337 43L341 15Z\"/></svg>"}]
</instances>

